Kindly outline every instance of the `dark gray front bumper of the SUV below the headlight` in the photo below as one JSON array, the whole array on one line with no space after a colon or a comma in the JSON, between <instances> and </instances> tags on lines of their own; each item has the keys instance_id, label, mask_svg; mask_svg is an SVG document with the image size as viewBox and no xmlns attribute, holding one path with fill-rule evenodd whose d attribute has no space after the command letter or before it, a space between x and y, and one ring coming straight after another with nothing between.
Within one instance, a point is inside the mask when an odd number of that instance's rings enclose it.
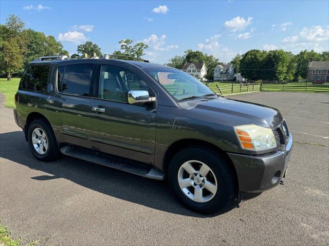
<instances>
[{"instance_id":1,"label":"dark gray front bumper of the SUV below the headlight","mask_svg":"<svg viewBox=\"0 0 329 246\"><path fill-rule=\"evenodd\" d=\"M240 192L261 193L277 186L287 169L292 147L293 136L289 134L286 147L275 153L257 156L228 153Z\"/></svg>"}]
</instances>

